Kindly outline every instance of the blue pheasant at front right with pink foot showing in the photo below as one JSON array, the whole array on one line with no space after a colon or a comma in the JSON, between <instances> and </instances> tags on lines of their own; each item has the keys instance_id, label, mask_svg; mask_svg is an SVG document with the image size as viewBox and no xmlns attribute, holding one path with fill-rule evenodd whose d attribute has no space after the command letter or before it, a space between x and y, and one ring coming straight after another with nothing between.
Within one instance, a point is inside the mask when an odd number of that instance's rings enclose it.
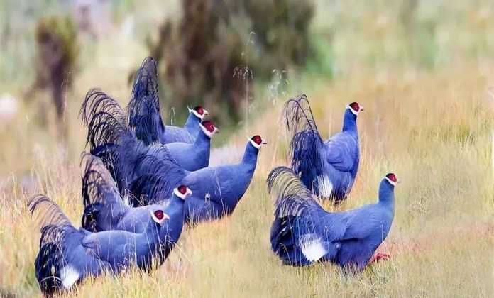
<instances>
[{"instance_id":1,"label":"blue pheasant at front right with pink foot showing","mask_svg":"<svg viewBox=\"0 0 494 298\"><path fill-rule=\"evenodd\" d=\"M268 176L268 190L275 197L275 219L270 242L286 265L304 266L329 261L346 270L362 270L375 259L395 216L395 174L380 182L378 202L358 209L328 212L314 199L297 174L276 167Z\"/></svg>"}]
</instances>

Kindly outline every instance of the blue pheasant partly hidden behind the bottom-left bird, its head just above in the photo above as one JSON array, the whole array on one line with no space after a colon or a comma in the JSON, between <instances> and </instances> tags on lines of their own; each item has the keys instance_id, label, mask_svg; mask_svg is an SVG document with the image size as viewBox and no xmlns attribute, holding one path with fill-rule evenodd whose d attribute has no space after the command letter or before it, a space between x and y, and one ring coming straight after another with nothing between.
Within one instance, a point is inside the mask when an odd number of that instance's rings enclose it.
<instances>
[{"instance_id":1,"label":"blue pheasant partly hidden behind the bottom-left bird, its head just above","mask_svg":"<svg viewBox=\"0 0 494 298\"><path fill-rule=\"evenodd\" d=\"M163 197L156 191L154 194L159 197L157 201L160 204L132 208L122 199L114 180L99 158L84 153L82 169L82 228L92 232L123 230L142 233L150 224L149 212L163 210L170 217L161 227L158 237L159 263L163 263L182 233L184 201L192 194L190 189L180 185L173 190L171 198ZM156 178L153 184L156 189L167 183L162 177Z\"/></svg>"}]
</instances>

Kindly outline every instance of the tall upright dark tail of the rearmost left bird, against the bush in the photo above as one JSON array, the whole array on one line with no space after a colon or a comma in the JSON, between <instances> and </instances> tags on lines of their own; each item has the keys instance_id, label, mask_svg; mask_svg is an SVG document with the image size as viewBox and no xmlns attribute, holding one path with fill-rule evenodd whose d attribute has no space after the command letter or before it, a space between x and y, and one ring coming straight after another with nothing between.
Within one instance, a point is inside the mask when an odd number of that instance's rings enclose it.
<instances>
[{"instance_id":1,"label":"tall upright dark tail of the rearmost left bird, against the bush","mask_svg":"<svg viewBox=\"0 0 494 298\"><path fill-rule=\"evenodd\" d=\"M127 111L128 125L139 140L146 145L160 141L165 126L160 114L158 65L152 57L146 57L136 73Z\"/></svg>"}]
</instances>

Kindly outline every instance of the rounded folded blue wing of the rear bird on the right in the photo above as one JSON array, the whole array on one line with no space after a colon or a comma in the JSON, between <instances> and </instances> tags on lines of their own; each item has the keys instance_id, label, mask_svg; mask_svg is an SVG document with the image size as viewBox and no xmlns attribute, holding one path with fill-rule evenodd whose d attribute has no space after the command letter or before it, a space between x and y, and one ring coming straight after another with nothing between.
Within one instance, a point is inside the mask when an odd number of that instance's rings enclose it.
<instances>
[{"instance_id":1,"label":"rounded folded blue wing of the rear bird on the right","mask_svg":"<svg viewBox=\"0 0 494 298\"><path fill-rule=\"evenodd\" d=\"M355 138L339 133L324 144L326 161L336 170L350 172L358 158L358 144Z\"/></svg>"}]
</instances>

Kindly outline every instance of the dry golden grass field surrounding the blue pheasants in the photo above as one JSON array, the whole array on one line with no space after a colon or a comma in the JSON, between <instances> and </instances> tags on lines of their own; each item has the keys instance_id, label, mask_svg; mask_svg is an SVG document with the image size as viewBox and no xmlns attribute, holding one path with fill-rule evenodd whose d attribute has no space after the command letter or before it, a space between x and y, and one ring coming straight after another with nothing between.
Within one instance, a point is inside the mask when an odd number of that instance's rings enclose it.
<instances>
[{"instance_id":1,"label":"dry golden grass field surrounding the blue pheasants","mask_svg":"<svg viewBox=\"0 0 494 298\"><path fill-rule=\"evenodd\" d=\"M473 23L484 15L481 9L468 14ZM490 28L493 18L487 19L485 28ZM320 13L317 20L327 21ZM348 28L347 33L356 30ZM402 49L388 46L388 38L397 34L393 26L385 26L394 32L389 35L368 28L353 52L344 35L335 38L334 55L341 57L336 69L344 70L339 79L309 72L290 79L275 100L259 95L251 126L221 141L243 149L246 136L258 133L269 142L260 152L251 187L232 216L185 230L163 267L149 275L127 272L89 280L69 296L493 297L494 97L489 89L494 87L494 60L488 53L494 43L472 42L474 50L485 51L476 58L460 55L461 50L431 50L437 59L420 56L424 65L416 67L418 62L403 58L407 54ZM444 25L438 28L441 33ZM482 40L468 35L468 30L458 32L463 40ZM371 46L373 34L384 38ZM16 118L0 123L0 296L40 296L33 265L40 235L26 210L27 199L47 194L79 226L83 209L79 154L85 139L77 120L81 101L90 87L101 87L126 104L130 88L122 74L146 55L142 45L128 40L109 39L92 50L92 63L67 93L65 142L57 139L53 123L48 128L38 123L38 101L48 101L47 94L21 103ZM373 51L382 56L375 57ZM351 63L351 53L362 55ZM374 62L364 63L368 59ZM390 60L376 67L375 61L383 59ZM400 59L408 62L397 62ZM19 96L22 90L18 81L1 82L0 87ZM361 167L350 197L339 209L375 202L378 183L387 172L394 171L402 180L396 189L390 236L378 249L392 258L358 275L344 275L326 263L287 267L270 250L273 201L265 178L276 165L287 164L287 139L278 119L283 102L301 92L307 93L324 137L341 129L346 103L358 101L365 107L358 118Z\"/></svg>"}]
</instances>

